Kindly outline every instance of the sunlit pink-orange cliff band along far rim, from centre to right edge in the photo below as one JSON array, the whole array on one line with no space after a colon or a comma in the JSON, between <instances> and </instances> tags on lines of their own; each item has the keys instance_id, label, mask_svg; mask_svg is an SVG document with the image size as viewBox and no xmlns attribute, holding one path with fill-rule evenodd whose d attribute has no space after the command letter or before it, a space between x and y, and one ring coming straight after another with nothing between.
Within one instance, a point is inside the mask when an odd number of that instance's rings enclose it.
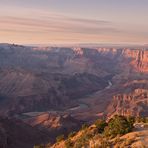
<instances>
[{"instance_id":1,"label":"sunlit pink-orange cliff band along far rim, from centre to right edge","mask_svg":"<svg viewBox=\"0 0 148 148\"><path fill-rule=\"evenodd\" d=\"M83 49L74 48L74 51L79 56L101 55L103 60L116 61L122 64L131 66L135 71L148 72L148 50L147 49L116 49L116 48L97 48L97 49ZM101 59L100 59L101 60ZM104 62L105 63L105 62ZM116 63L117 64L117 63Z\"/></svg>"}]
</instances>

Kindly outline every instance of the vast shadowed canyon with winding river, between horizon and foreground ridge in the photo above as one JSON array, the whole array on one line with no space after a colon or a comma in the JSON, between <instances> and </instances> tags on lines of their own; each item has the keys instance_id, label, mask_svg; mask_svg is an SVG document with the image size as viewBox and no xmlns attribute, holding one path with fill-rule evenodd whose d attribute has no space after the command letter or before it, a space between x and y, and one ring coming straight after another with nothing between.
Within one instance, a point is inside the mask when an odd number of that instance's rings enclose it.
<instances>
[{"instance_id":1,"label":"vast shadowed canyon with winding river, between horizon and foreground ridge","mask_svg":"<svg viewBox=\"0 0 148 148\"><path fill-rule=\"evenodd\" d=\"M1 116L54 141L116 114L148 116L147 48L0 44Z\"/></svg>"}]
</instances>

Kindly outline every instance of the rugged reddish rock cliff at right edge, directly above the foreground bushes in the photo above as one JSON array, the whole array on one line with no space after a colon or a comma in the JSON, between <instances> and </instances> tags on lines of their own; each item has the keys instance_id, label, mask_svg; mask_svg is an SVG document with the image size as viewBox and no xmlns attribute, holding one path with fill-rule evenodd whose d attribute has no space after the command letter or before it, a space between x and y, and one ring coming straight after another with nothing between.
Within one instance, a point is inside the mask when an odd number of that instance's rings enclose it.
<instances>
[{"instance_id":1,"label":"rugged reddish rock cliff at right edge, directly above the foreground bushes","mask_svg":"<svg viewBox=\"0 0 148 148\"><path fill-rule=\"evenodd\" d=\"M148 115L148 85L147 81L141 85L123 87L123 93L113 96L107 108L107 116L147 116Z\"/></svg>"}]
</instances>

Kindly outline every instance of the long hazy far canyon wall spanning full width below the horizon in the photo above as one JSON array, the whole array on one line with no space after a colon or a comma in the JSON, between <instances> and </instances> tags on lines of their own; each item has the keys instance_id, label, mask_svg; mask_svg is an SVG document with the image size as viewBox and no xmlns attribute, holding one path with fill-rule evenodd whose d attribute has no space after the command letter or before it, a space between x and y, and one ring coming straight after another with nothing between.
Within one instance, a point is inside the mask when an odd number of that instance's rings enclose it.
<instances>
[{"instance_id":1,"label":"long hazy far canyon wall spanning full width below the horizon","mask_svg":"<svg viewBox=\"0 0 148 148\"><path fill-rule=\"evenodd\" d=\"M131 66L135 71L148 72L148 50L0 46L1 68L17 67L38 72L65 74L86 72L106 75L121 65Z\"/></svg>"}]
</instances>

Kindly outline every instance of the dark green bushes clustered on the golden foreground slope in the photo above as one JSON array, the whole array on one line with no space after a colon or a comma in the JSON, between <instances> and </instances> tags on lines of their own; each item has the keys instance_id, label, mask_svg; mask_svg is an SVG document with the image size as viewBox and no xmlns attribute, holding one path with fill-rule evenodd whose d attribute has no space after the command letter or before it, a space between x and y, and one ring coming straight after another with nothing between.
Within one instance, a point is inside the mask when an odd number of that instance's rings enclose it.
<instances>
[{"instance_id":1,"label":"dark green bushes clustered on the golden foreground slope","mask_svg":"<svg viewBox=\"0 0 148 148\"><path fill-rule=\"evenodd\" d=\"M116 136L124 135L129 133L133 129L133 124L135 123L134 117L125 117L120 115L115 115L108 122L105 120L97 120L95 122L95 128L88 128L87 124L82 125L82 135L76 141L73 141L72 138L75 136L76 132L71 132L68 135L68 139L65 141L66 148L81 148L89 145L89 141L96 135L102 137L101 147L107 148L110 146L110 143L107 139L114 138ZM138 120L143 120L139 119ZM144 120L146 121L146 120ZM64 140L64 135L57 137L57 142Z\"/></svg>"}]
</instances>

